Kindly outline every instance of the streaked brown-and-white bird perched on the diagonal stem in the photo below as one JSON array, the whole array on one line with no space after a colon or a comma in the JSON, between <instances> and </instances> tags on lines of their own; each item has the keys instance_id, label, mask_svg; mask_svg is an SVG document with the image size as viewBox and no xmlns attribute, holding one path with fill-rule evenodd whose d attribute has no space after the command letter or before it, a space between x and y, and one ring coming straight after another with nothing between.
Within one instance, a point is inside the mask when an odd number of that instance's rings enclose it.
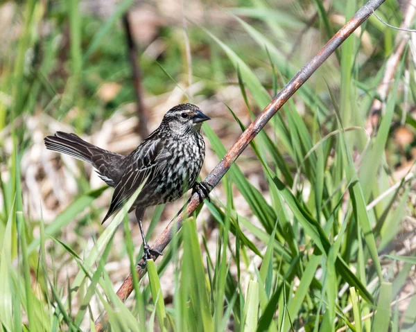
<instances>
[{"instance_id":1,"label":"streaked brown-and-white bird perched on the diagonal stem","mask_svg":"<svg viewBox=\"0 0 416 332\"><path fill-rule=\"evenodd\" d=\"M208 196L207 184L196 182L205 158L205 142L200 128L207 120L209 117L196 105L177 105L166 112L159 128L126 156L103 150L76 134L66 132L56 132L54 136L45 137L44 141L49 150L92 164L98 176L114 187L110 209L103 222L121 209L148 177L132 209L136 209L145 259L150 259L151 253L161 253L146 243L141 225L146 207L173 202L191 188L200 196L201 192Z\"/></svg>"}]
</instances>

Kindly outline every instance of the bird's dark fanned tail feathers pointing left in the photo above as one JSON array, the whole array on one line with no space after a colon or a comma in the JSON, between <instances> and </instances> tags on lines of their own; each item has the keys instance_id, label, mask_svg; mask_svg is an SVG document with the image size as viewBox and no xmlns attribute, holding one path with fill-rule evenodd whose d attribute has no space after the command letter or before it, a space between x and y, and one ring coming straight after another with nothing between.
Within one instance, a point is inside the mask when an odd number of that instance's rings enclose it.
<instances>
[{"instance_id":1,"label":"bird's dark fanned tail feathers pointing left","mask_svg":"<svg viewBox=\"0 0 416 332\"><path fill-rule=\"evenodd\" d=\"M84 141L76 134L68 134L67 132L56 132L53 136L46 136L44 141L48 150L70 155L71 157L87 161L89 164L93 164L92 155L97 150L101 150Z\"/></svg>"}]
</instances>

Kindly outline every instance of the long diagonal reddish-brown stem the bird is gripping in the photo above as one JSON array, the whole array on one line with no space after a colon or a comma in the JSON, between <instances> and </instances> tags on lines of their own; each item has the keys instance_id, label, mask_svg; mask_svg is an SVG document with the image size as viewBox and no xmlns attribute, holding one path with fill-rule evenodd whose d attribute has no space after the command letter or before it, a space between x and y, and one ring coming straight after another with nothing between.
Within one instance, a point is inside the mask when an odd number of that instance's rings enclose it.
<instances>
[{"instance_id":1,"label":"long diagonal reddish-brown stem the bird is gripping","mask_svg":"<svg viewBox=\"0 0 416 332\"><path fill-rule=\"evenodd\" d=\"M358 26L361 26L363 22L372 15L372 12L379 8L381 4L385 0L370 0L368 1L356 14L352 19L350 19L345 26L338 30L338 33L334 35L327 44L319 51L315 57L312 58L300 71L296 73L296 75L291 79L288 84L279 91L279 94L273 98L268 106L261 112L256 119L248 126L248 128L241 134L239 139L234 143L232 148L230 148L227 154L221 159L218 165L214 168L211 173L205 179L211 188L214 188L220 182L221 178L227 173L228 169L232 166L234 161L241 155L241 152L247 148L250 141L256 137L256 135L263 129L263 127L272 119L277 111L288 101L289 98L299 89L306 80L308 80L311 75L320 67L320 65L329 58L337 48L342 44L349 35L351 35ZM202 199L204 199L204 195L202 195ZM173 233L176 230L179 230L182 227L182 220L186 216L190 216L193 211L196 210L198 205L200 204L200 198L198 194L195 193L191 199L189 200L187 206L183 209L178 216L169 222L168 226L164 229L162 234L155 240L153 243L153 249L162 252L164 248L171 242ZM153 259L157 259L157 256L153 256ZM146 265L144 264L144 260L141 259L139 263L136 265L136 272L138 279L141 279L146 274ZM144 266L144 268L142 268ZM121 301L125 301L128 296L131 294L132 290L134 289L133 286L133 277L130 274L123 284L120 286L119 290L117 291L117 296L121 299ZM107 315L101 315L98 317L95 323L96 331L101 332L104 328L104 323L107 322Z\"/></svg>"}]
</instances>

